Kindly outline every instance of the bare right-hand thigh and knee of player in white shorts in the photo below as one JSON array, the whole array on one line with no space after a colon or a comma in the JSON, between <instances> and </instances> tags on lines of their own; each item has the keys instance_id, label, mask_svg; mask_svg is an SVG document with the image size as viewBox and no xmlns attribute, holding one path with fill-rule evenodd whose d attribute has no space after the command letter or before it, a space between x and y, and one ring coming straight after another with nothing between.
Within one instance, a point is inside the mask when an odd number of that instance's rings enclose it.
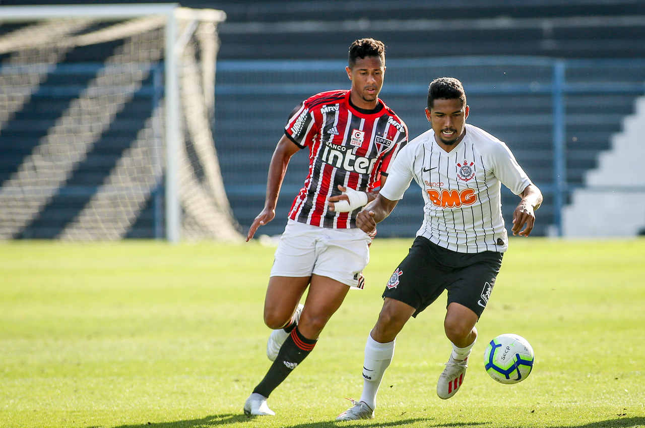
<instances>
[{"instance_id":1,"label":"bare right-hand thigh and knee of player in white shorts","mask_svg":"<svg viewBox=\"0 0 645 428\"><path fill-rule=\"evenodd\" d=\"M349 289L349 285L313 274L298 330L306 338L317 339L327 321L341 307Z\"/></svg>"}]
</instances>

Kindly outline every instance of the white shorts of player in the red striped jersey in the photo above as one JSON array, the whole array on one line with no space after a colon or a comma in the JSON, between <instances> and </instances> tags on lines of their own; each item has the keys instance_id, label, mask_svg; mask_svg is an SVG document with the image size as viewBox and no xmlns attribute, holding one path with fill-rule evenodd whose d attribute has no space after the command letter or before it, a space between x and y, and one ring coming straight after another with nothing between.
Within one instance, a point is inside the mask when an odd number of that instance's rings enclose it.
<instances>
[{"instance_id":1,"label":"white shorts of player in the red striped jersey","mask_svg":"<svg viewBox=\"0 0 645 428\"><path fill-rule=\"evenodd\" d=\"M275 250L271 276L316 274L358 287L370 261L371 241L361 229L328 229L289 219Z\"/></svg>"}]
</instances>

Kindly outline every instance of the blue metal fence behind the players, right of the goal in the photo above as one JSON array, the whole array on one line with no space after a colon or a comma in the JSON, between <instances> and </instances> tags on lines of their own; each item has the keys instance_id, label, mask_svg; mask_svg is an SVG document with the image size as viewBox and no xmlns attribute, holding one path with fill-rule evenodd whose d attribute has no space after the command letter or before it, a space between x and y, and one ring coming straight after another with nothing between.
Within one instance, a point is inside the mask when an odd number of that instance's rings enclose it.
<instances>
[{"instance_id":1,"label":"blue metal fence behind the players, right of the goal","mask_svg":"<svg viewBox=\"0 0 645 428\"><path fill-rule=\"evenodd\" d=\"M275 131L272 135L279 137L288 106L295 107L316 92L349 87L344 66L342 61L219 61L216 141L226 188L233 195L233 210L242 225L250 224L257 212L249 208L253 204L236 203L235 195L263 199L268 159L255 164L261 170L259 179L227 181L227 176L235 176L234 170L248 167L249 160L237 154L239 136L256 147L266 145L264 156L270 156L275 141L267 132ZM387 66L381 97L408 123L411 137L427 129L422 108L430 80L440 76L461 79L471 106L469 122L506 141L515 152L545 195L541 217L550 213L546 223L555 226L558 234L562 234L561 212L570 192L584 184L584 172L595 167L597 152L610 147L610 136L633 110L633 99L645 93L643 59L446 57L391 59ZM600 97L606 107L590 97ZM273 106L271 112L266 111L266 103ZM227 110L230 106L243 111L244 117ZM544 163L544 159L549 160ZM283 192L301 183L301 176L287 177ZM504 205L509 205L510 192L505 197ZM510 213L505 216L508 219ZM417 226L415 219L405 230L413 234ZM546 234L546 228L541 234Z\"/></svg>"}]
</instances>

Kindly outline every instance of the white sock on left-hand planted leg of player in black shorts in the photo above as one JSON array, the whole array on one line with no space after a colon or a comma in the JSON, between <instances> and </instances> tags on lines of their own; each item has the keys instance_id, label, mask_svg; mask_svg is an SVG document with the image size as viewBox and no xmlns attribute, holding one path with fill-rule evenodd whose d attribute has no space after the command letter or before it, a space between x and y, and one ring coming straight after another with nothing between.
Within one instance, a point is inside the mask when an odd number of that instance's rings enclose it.
<instances>
[{"instance_id":1,"label":"white sock on left-hand planted leg of player in black shorts","mask_svg":"<svg viewBox=\"0 0 645 428\"><path fill-rule=\"evenodd\" d=\"M363 362L363 392L361 402L365 402L372 410L376 408L376 394L379 392L379 385L385 369L388 368L394 355L394 342L379 343L368 334L365 343L365 360Z\"/></svg>"}]
</instances>

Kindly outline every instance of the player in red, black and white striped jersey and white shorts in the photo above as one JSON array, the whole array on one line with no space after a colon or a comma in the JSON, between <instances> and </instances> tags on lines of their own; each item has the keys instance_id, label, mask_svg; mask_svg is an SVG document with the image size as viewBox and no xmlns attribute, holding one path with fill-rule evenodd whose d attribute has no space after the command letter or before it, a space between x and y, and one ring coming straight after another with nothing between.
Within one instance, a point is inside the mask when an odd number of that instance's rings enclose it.
<instances>
[{"instance_id":1,"label":"player in red, black and white striped jersey and white shorts","mask_svg":"<svg viewBox=\"0 0 645 428\"><path fill-rule=\"evenodd\" d=\"M244 403L248 416L275 414L266 403L269 394L312 351L350 287L362 288L372 236L357 228L356 216L408 142L405 123L379 99L383 43L354 41L346 72L350 90L316 94L290 114L269 166L264 209L246 236L253 238L273 219L289 160L308 148L309 174L275 250L264 300L264 323L274 329L266 347L273 364Z\"/></svg>"}]
</instances>

